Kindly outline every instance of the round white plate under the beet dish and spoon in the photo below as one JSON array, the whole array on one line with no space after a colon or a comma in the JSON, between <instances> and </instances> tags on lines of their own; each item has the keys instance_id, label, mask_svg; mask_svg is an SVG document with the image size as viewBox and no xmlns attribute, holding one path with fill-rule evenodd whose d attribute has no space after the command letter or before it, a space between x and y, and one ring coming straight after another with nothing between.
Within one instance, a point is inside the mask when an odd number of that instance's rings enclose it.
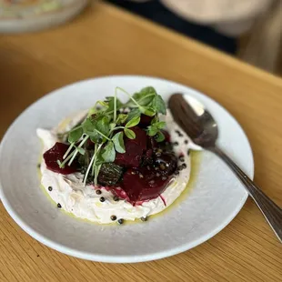
<instances>
[{"instance_id":1,"label":"round white plate under the beet dish and spoon","mask_svg":"<svg viewBox=\"0 0 282 282\"><path fill-rule=\"evenodd\" d=\"M247 192L217 156L203 152L188 196L146 223L99 226L65 215L39 187L37 127L52 127L72 112L112 96L116 86L135 92L154 86L167 99L181 92L198 99L217 120L218 145L253 178L247 136L215 101L174 82L146 76L107 76L55 90L29 106L8 129L0 147L0 196L15 222L32 237L67 255L102 262L140 262L169 257L203 243L237 215ZM125 97L126 99L126 97ZM192 167L193 169L193 167Z\"/></svg>"}]
</instances>

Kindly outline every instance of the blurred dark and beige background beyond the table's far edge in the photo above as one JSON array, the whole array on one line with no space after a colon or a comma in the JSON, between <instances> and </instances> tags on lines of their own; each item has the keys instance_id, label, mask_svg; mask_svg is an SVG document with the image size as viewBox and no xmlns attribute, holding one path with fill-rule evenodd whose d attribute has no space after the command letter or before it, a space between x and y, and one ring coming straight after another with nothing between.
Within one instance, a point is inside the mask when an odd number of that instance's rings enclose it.
<instances>
[{"instance_id":1,"label":"blurred dark and beige background beyond the table's far edge","mask_svg":"<svg viewBox=\"0 0 282 282\"><path fill-rule=\"evenodd\" d=\"M106 0L282 76L281 0Z\"/></svg>"}]
</instances>

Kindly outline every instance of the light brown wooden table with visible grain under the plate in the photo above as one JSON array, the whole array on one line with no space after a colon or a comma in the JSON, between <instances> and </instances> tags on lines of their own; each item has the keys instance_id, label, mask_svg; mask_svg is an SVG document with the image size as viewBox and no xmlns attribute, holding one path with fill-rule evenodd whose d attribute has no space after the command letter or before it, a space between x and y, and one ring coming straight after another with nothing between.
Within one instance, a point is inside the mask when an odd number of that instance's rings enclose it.
<instances>
[{"instance_id":1,"label":"light brown wooden table with visible grain under the plate","mask_svg":"<svg viewBox=\"0 0 282 282\"><path fill-rule=\"evenodd\" d=\"M96 3L69 25L0 37L0 136L49 91L93 76L161 76L216 99L241 123L256 181L282 206L282 80ZM0 281L282 281L282 247L250 200L216 237L186 253L125 265L67 257L38 243L0 205Z\"/></svg>"}]
</instances>

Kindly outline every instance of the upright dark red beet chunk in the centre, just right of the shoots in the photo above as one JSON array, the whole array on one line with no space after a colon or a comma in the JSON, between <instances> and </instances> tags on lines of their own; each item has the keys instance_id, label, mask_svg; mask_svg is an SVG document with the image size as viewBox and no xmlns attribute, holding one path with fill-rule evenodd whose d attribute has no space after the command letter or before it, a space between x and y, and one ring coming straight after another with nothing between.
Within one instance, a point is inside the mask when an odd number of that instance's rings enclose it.
<instances>
[{"instance_id":1,"label":"upright dark red beet chunk in the centre, just right of the shoots","mask_svg":"<svg viewBox=\"0 0 282 282\"><path fill-rule=\"evenodd\" d=\"M140 165L142 156L146 150L147 136L145 130L134 126L130 128L136 134L135 139L125 137L126 153L116 154L116 165L125 167L137 167Z\"/></svg>"}]
</instances>

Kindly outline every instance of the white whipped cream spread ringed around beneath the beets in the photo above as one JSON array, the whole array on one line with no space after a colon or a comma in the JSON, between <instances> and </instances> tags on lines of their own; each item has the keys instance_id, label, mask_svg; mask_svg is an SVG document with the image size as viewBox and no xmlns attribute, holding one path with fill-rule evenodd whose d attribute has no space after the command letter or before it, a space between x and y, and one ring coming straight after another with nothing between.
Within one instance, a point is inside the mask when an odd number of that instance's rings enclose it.
<instances>
[{"instance_id":1,"label":"white whipped cream spread ringed around beneath the beets","mask_svg":"<svg viewBox=\"0 0 282 282\"><path fill-rule=\"evenodd\" d=\"M36 133L43 141L43 153L54 146L55 142L58 141L57 133L69 130L85 115L86 112L72 116L52 130L38 128ZM94 186L83 186L83 176L80 173L64 176L48 170L43 159L40 166L42 173L41 183L45 187L46 192L55 203L59 203L66 212L72 213L76 217L88 219L100 224L112 223L113 220L111 216L116 216L116 220L119 218L135 220L136 218L148 217L163 211L167 206L170 206L186 188L191 169L190 157L187 151L191 143L188 142L186 144L185 140L190 139L179 126L176 125L169 111L167 111L166 116L161 116L160 119L166 121L166 130L170 135L171 142L178 143L177 146L174 146L176 156L183 155L185 158L184 163L186 164L186 168L181 170L178 176L174 176L174 178L171 179L161 196L146 201L141 206L133 206L122 199L114 201L114 195L110 191L106 191L106 189L102 188L102 194L97 195ZM183 136L179 137L177 131L181 132ZM180 164L182 163L179 161L179 165ZM52 186L52 191L48 190L49 186ZM100 202L101 196L105 197L105 202Z\"/></svg>"}]
</instances>

